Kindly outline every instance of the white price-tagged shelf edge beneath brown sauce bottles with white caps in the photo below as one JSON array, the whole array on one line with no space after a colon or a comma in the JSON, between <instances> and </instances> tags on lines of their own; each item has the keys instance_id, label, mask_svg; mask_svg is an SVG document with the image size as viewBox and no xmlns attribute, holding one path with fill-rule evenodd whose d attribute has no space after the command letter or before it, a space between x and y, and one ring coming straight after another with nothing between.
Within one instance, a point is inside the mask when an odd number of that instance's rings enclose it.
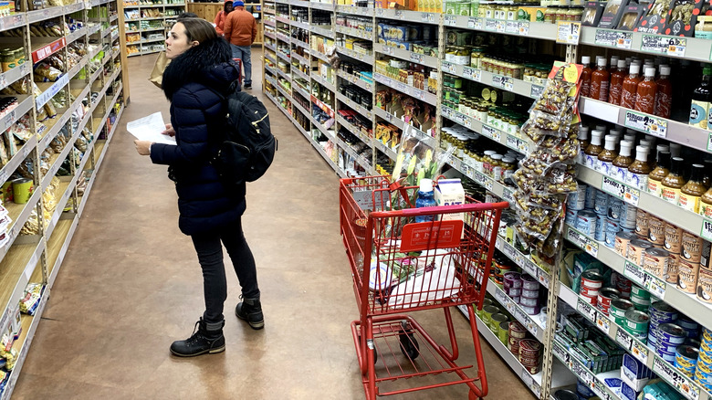
<instances>
[{"instance_id":1,"label":"white price-tagged shelf edge beneath brown sauce bottles with white caps","mask_svg":"<svg viewBox=\"0 0 712 400\"><path fill-rule=\"evenodd\" d=\"M660 197L651 195L643 190L634 189L627 184L622 184L615 179L609 178L591 168L583 165L578 165L577 178L584 184L589 184L596 189L613 195L627 203L635 205L642 210L653 213L668 221L674 221L676 226L680 226L686 231L692 232L702 237L710 239L709 234L706 234L706 222L712 221L695 214L691 211L665 201Z\"/></svg>"}]
</instances>

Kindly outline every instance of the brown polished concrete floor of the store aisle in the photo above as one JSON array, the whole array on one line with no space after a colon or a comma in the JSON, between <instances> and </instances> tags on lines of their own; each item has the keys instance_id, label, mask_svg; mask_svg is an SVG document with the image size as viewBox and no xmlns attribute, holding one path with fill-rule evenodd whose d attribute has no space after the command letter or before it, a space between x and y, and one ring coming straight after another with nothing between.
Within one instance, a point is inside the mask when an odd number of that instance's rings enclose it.
<instances>
[{"instance_id":1,"label":"brown polished concrete floor of the store aisle","mask_svg":"<svg viewBox=\"0 0 712 400\"><path fill-rule=\"evenodd\" d=\"M253 53L261 96L260 51ZM339 236L338 179L266 98L279 139L274 166L248 185L244 226L257 258L267 327L253 331L232 310L240 293L228 264L225 353L179 359L168 346L203 311L201 272L177 226L165 167L139 156L125 131L168 102L146 78L154 57L130 58L126 109L89 196L16 385L16 399L361 399L350 322L358 318ZM415 314L445 342L442 311ZM475 363L455 312L461 362ZM529 390L483 340L492 399ZM406 384L410 385L410 382ZM458 385L397 398L467 398Z\"/></svg>"}]
</instances>

